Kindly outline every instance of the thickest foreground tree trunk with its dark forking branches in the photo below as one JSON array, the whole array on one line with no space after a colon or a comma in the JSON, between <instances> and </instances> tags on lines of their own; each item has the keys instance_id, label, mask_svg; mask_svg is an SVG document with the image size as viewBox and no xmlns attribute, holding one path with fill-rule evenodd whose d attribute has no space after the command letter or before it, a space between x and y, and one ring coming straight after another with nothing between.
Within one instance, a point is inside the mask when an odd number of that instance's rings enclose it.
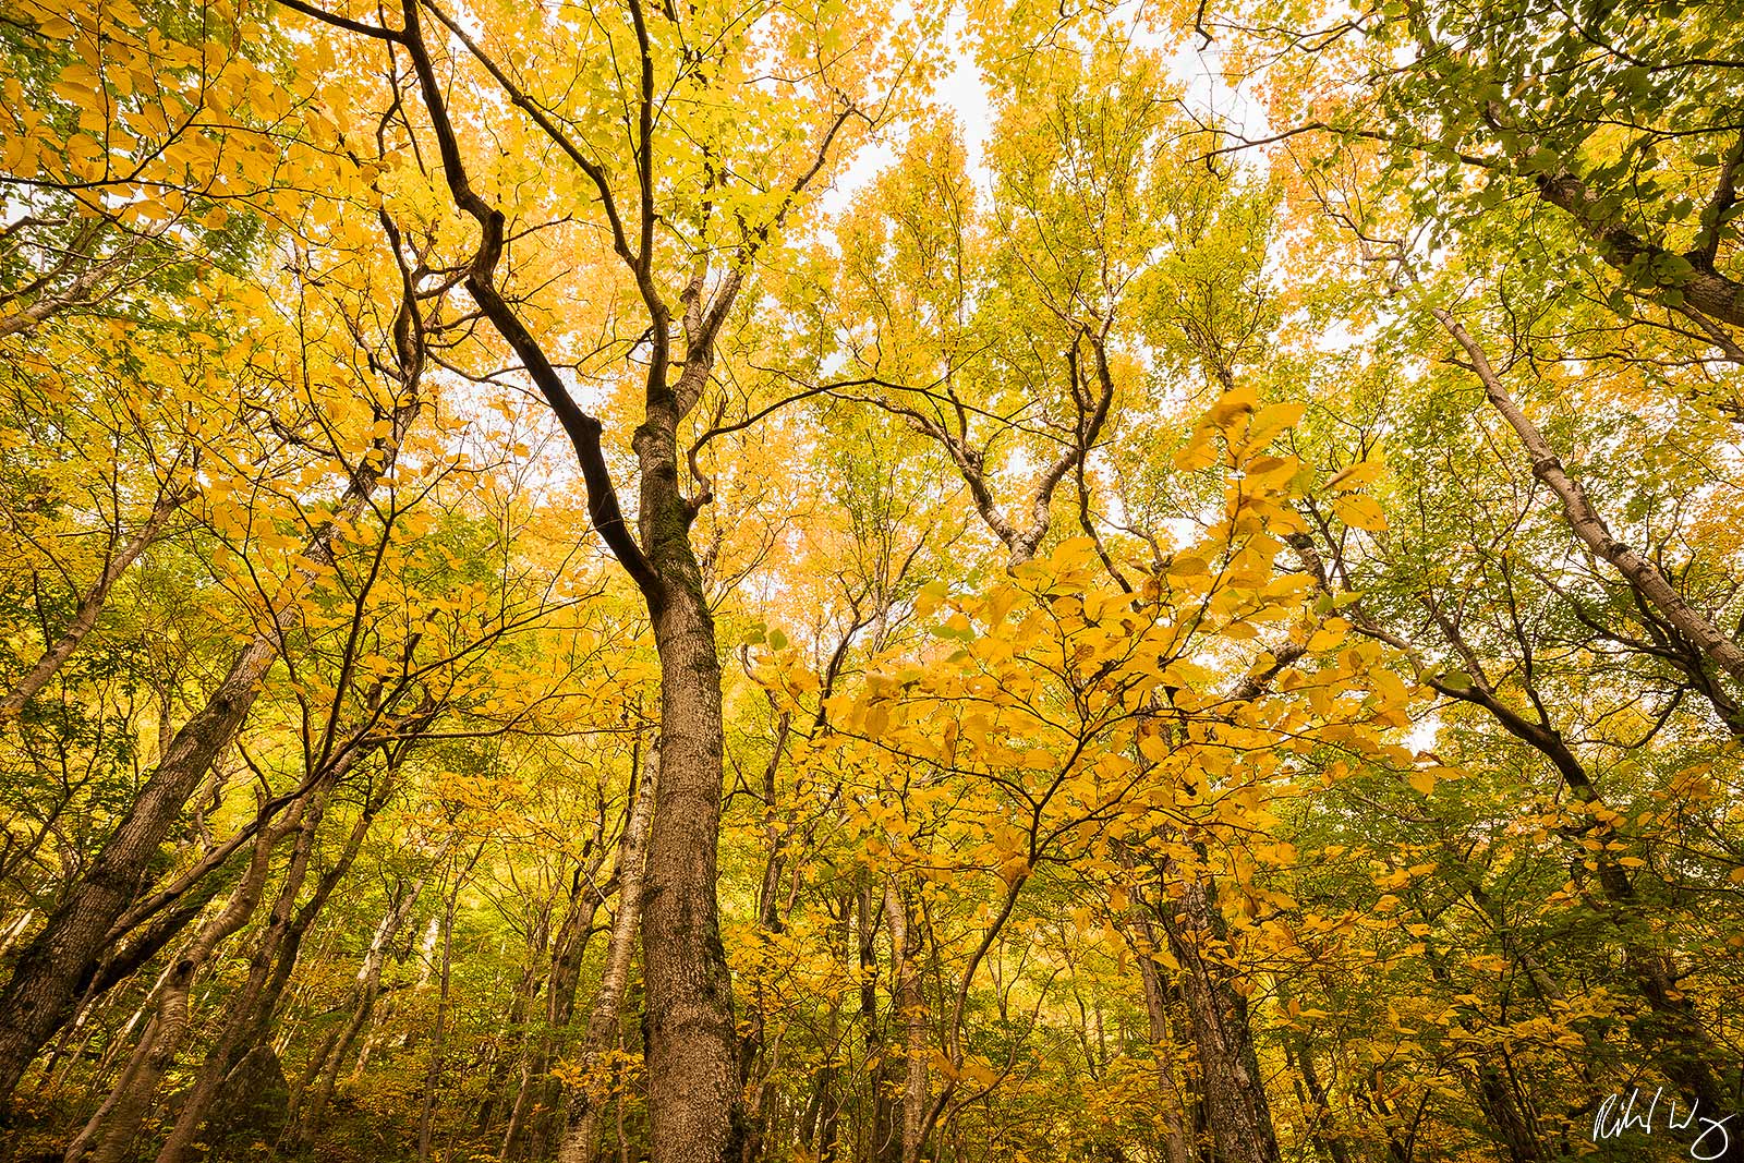
<instances>
[{"instance_id":1,"label":"thickest foreground tree trunk with its dark forking branches","mask_svg":"<svg viewBox=\"0 0 1744 1163\"><path fill-rule=\"evenodd\" d=\"M691 521L710 499L706 481L687 499L680 485L678 424L701 399L715 364L720 335L745 277L734 265L708 293L708 256L701 256L680 295L682 323L659 289L654 262L654 54L644 9L631 5L640 44L644 138L638 169L640 235L635 249L619 235L617 253L630 265L649 314L649 363L644 420L633 448L640 478L638 532L631 534L617 502L610 466L600 438L603 425L576 403L563 377L497 286L497 263L506 246L506 214L473 187L448 99L422 33L417 0L401 0L403 28L394 38L405 47L419 78L431 133L441 153L443 176L457 207L480 227L478 249L467 265L466 288L480 312L514 349L527 375L563 424L588 490L588 516L612 554L642 593L654 624L661 663L659 753L661 778L649 828L647 903L642 943L647 978L647 1088L659 1163L724 1163L743 1133L736 1086L732 978L720 945L715 900L717 844L720 840L722 718L720 657L715 621L703 591L703 574L691 546ZM478 51L466 30L439 16L448 31L467 45L502 91L518 96L514 80ZM356 31L356 26L352 26ZM523 108L530 105L516 99ZM562 131L548 120L548 133ZM609 197L603 169L570 152L581 169ZM816 171L813 171L816 173ZM799 181L804 185L807 178ZM799 187L794 187L795 190ZM675 323L684 352L675 364ZM675 366L682 366L673 378ZM687 471L687 469L685 469Z\"/></svg>"}]
</instances>

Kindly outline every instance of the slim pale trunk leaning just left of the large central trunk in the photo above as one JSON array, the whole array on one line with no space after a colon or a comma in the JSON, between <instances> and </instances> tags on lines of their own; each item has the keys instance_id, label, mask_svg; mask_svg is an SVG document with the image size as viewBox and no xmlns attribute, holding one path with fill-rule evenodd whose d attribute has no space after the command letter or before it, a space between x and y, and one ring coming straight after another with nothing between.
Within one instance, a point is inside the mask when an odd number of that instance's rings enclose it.
<instances>
[{"instance_id":1,"label":"slim pale trunk leaning just left of the large central trunk","mask_svg":"<svg viewBox=\"0 0 1744 1163\"><path fill-rule=\"evenodd\" d=\"M569 1126L563 1130L563 1142L558 1147L558 1163L593 1163L598 1151L605 1088L598 1085L602 1079L595 1076L600 1069L600 1057L617 1041L619 1013L624 1004L624 989L630 983L630 957L635 952L637 929L644 924L644 900L652 891L645 870L649 863L647 840L654 814L659 811L659 785L664 779L666 755L663 750L654 748L642 764L642 778L635 790L630 821L624 825L624 839L617 849L617 915L612 917L612 936L605 947L605 973L600 976L600 992L595 996L593 1010L588 1013L588 1029L582 1034L581 1053L577 1055L577 1064L586 1081L570 1097ZM642 964L645 975L645 943ZM649 994L649 1008L652 1008L652 990Z\"/></svg>"}]
</instances>

